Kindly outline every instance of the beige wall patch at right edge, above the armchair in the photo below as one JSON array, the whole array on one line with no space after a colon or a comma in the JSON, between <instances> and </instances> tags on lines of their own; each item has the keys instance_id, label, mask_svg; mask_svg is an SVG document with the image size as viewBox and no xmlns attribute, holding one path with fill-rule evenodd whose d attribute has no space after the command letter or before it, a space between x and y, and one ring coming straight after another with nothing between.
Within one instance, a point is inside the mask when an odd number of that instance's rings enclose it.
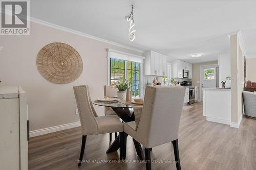
<instances>
[{"instance_id":1,"label":"beige wall patch at right edge, above the armchair","mask_svg":"<svg viewBox=\"0 0 256 170\"><path fill-rule=\"evenodd\" d=\"M246 80L256 82L256 58L246 59Z\"/></svg>"}]
</instances>

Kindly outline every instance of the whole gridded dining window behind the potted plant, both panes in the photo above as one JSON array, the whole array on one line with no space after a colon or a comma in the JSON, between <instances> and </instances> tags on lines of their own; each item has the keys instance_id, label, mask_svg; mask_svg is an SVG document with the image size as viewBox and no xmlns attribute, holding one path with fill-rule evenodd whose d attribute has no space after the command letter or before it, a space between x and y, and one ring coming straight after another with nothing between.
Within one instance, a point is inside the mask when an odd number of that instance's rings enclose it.
<instances>
[{"instance_id":1,"label":"whole gridded dining window behind the potted plant, both panes","mask_svg":"<svg viewBox=\"0 0 256 170\"><path fill-rule=\"evenodd\" d=\"M140 96L140 63L110 58L110 85L124 78L131 85L132 97Z\"/></svg>"}]
</instances>

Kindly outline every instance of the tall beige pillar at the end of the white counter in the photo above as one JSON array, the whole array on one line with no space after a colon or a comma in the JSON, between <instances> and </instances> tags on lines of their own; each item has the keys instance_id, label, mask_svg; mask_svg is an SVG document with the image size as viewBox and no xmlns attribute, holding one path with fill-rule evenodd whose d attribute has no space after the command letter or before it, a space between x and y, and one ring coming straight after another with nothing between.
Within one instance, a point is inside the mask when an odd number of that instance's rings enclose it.
<instances>
[{"instance_id":1,"label":"tall beige pillar at the end of the white counter","mask_svg":"<svg viewBox=\"0 0 256 170\"><path fill-rule=\"evenodd\" d=\"M238 35L230 36L231 58L231 122L238 123L242 112L242 91L244 87L244 54Z\"/></svg>"}]
</instances>

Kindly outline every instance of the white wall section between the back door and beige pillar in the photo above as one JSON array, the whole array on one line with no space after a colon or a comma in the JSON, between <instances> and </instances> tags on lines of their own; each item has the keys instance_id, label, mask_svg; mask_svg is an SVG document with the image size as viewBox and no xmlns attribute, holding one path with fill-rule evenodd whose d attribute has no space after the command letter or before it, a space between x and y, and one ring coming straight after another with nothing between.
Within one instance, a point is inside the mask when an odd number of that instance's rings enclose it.
<instances>
[{"instance_id":1,"label":"white wall section between the back door and beige pillar","mask_svg":"<svg viewBox=\"0 0 256 170\"><path fill-rule=\"evenodd\" d=\"M219 87L222 86L221 81L226 81L226 77L231 77L230 69L230 53L220 54L218 58L219 63Z\"/></svg>"}]
</instances>

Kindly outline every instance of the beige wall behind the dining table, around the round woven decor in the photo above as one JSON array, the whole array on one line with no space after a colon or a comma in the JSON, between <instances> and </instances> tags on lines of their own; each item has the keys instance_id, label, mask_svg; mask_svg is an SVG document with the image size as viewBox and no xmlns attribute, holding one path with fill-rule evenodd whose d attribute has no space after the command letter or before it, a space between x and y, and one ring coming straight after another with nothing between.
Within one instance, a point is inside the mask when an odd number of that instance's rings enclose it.
<instances>
[{"instance_id":1,"label":"beige wall behind the dining table, around the round woven decor","mask_svg":"<svg viewBox=\"0 0 256 170\"><path fill-rule=\"evenodd\" d=\"M22 86L28 95L30 130L79 121L75 114L73 86L87 84L93 99L103 96L108 83L106 48L142 55L125 48L31 22L30 36L1 36L1 86ZM39 50L48 43L63 42L73 46L83 61L81 76L69 84L53 84L44 79L36 67ZM103 115L103 107L96 107Z\"/></svg>"}]
</instances>

